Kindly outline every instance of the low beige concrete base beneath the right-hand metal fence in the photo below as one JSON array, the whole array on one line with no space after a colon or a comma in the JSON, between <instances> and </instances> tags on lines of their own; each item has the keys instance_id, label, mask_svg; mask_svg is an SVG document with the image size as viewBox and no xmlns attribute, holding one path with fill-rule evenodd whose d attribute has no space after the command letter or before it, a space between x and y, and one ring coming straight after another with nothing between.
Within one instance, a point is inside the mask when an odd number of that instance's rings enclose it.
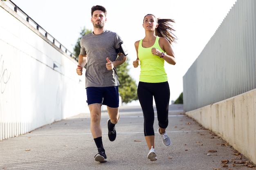
<instances>
[{"instance_id":1,"label":"low beige concrete base beneath the right-hand metal fence","mask_svg":"<svg viewBox=\"0 0 256 170\"><path fill-rule=\"evenodd\" d=\"M256 163L256 89L186 112Z\"/></svg>"}]
</instances>

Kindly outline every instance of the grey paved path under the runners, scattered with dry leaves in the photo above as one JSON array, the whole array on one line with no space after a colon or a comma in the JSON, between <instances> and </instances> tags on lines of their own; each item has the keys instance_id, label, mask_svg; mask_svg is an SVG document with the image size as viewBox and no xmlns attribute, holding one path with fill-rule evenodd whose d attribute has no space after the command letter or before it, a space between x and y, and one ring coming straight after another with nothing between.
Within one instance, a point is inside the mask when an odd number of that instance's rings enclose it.
<instances>
[{"instance_id":1,"label":"grey paved path under the runners, scattered with dry leaves","mask_svg":"<svg viewBox=\"0 0 256 170\"><path fill-rule=\"evenodd\" d=\"M183 106L170 105L166 129L172 145L157 134L157 161L147 159L143 115L139 106L121 106L117 138L108 139L108 114L102 113L103 145L108 162L94 161L97 148L90 133L90 114L80 114L0 141L0 169L12 170L251 170L234 148L184 115ZM223 160L229 160L225 166Z\"/></svg>"}]
</instances>

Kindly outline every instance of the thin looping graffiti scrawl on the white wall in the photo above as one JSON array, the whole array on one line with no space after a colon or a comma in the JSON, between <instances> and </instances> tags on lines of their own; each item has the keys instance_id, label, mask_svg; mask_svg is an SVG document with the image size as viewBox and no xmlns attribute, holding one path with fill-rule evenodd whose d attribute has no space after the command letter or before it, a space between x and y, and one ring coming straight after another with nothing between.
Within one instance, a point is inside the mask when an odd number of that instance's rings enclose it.
<instances>
[{"instance_id":1,"label":"thin looping graffiti scrawl on the white wall","mask_svg":"<svg viewBox=\"0 0 256 170\"><path fill-rule=\"evenodd\" d=\"M7 86L7 83L11 77L11 73L8 73L7 68L4 68L4 59L0 56L0 90L1 93L4 93L4 90Z\"/></svg>"}]
</instances>

